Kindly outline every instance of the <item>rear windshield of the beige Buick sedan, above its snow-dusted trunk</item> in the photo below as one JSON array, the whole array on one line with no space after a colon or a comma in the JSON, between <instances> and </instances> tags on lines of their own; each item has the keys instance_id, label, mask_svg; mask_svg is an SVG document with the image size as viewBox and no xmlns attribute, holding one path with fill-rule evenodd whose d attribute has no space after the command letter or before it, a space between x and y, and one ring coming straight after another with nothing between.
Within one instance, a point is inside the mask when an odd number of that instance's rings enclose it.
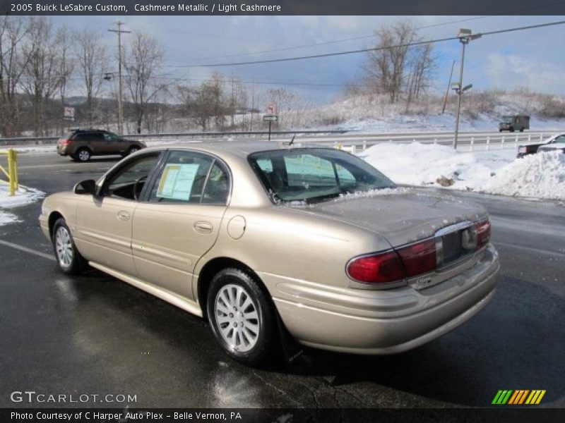
<instances>
[{"instance_id":1,"label":"rear windshield of the beige Buick sedan, above its snow-dusted trunk","mask_svg":"<svg viewBox=\"0 0 565 423\"><path fill-rule=\"evenodd\" d=\"M376 168L338 149L258 152L249 156L249 163L274 202L316 202L395 187Z\"/></svg>"}]
</instances>

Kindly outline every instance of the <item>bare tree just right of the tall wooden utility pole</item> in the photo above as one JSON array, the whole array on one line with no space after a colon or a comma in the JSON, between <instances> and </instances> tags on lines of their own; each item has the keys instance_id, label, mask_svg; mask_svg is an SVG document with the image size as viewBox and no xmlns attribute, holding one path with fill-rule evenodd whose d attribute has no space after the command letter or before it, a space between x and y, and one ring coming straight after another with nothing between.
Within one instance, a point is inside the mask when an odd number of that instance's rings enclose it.
<instances>
[{"instance_id":1,"label":"bare tree just right of the tall wooden utility pole","mask_svg":"<svg viewBox=\"0 0 565 423\"><path fill-rule=\"evenodd\" d=\"M165 47L150 35L133 34L129 52L126 53L126 85L133 103L133 117L136 131L141 133L141 123L148 109L148 104L165 84L159 82L157 71L160 70Z\"/></svg>"}]
</instances>

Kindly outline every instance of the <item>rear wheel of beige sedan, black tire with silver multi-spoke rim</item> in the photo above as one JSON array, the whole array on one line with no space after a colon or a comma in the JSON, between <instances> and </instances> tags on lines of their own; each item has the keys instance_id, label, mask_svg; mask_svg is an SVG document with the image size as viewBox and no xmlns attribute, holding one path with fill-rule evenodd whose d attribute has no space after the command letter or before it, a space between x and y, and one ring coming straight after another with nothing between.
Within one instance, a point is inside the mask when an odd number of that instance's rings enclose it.
<instances>
[{"instance_id":1,"label":"rear wheel of beige sedan, black tire with silver multi-spoke rim","mask_svg":"<svg viewBox=\"0 0 565 423\"><path fill-rule=\"evenodd\" d=\"M222 298L228 295L235 301L225 302ZM246 305L245 309L237 308L246 304L244 295L251 300L251 305ZM225 353L248 366L267 364L273 357L274 345L278 344L278 330L273 302L254 276L239 269L223 269L210 282L207 298L210 328ZM229 315L223 311L228 307ZM252 318L254 316L256 319Z\"/></svg>"}]
</instances>

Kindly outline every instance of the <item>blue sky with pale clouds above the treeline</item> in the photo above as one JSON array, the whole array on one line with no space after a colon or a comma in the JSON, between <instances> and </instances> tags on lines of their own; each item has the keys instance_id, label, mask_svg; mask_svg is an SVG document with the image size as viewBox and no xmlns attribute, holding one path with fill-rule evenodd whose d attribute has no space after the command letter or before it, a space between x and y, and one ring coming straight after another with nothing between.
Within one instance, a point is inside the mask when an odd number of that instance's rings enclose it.
<instances>
[{"instance_id":1,"label":"blue sky with pale clouds above the treeline","mask_svg":"<svg viewBox=\"0 0 565 423\"><path fill-rule=\"evenodd\" d=\"M397 20L412 20L422 27L424 39L455 36L460 27L473 32L486 32L508 27L533 25L556 20L562 16L55 16L56 24L100 30L105 34L109 51L116 36L106 30L122 20L124 29L155 36L165 46L162 73L168 78L189 78L198 82L212 71L210 68L177 66L197 63L218 63L276 59L308 54L323 54L371 47L373 39L364 38L336 42L316 47L249 54L256 51L285 49L332 42L338 39L371 35L380 25ZM459 21L461 22L453 22ZM435 25L435 26L430 26ZM128 35L124 35L127 39ZM565 25L522 32L510 32L477 39L468 46L465 56L464 82L475 90L488 88L528 87L530 90L565 94ZM456 60L456 75L460 59L460 44L450 41L436 44L439 56L434 85L445 90ZM228 56L242 54L242 56ZM248 55L244 55L248 54ZM227 57L225 57L227 56ZM232 72L243 80L278 82L316 102L338 97L343 85L360 73L364 54L335 56L283 63L217 68L230 77ZM115 67L115 66L114 66ZM114 71L109 64L109 71ZM327 85L292 85L292 84ZM268 85L256 85L258 90Z\"/></svg>"}]
</instances>

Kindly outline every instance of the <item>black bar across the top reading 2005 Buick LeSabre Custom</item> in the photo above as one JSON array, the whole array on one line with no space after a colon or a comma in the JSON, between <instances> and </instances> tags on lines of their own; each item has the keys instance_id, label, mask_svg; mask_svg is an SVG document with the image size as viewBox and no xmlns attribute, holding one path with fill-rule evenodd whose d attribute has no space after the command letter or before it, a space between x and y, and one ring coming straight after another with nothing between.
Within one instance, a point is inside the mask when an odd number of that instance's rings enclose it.
<instances>
[{"instance_id":1,"label":"black bar across the top reading 2005 Buick LeSabre Custom","mask_svg":"<svg viewBox=\"0 0 565 423\"><path fill-rule=\"evenodd\" d=\"M71 6L72 5L72 6ZM565 15L559 0L0 0L2 15Z\"/></svg>"}]
</instances>

